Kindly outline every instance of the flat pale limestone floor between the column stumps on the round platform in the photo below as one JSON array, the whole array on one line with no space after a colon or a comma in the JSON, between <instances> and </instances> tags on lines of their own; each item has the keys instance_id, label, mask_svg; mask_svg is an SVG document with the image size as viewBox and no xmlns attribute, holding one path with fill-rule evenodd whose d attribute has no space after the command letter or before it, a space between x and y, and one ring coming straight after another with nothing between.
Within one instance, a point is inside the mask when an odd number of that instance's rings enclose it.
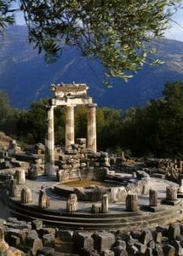
<instances>
[{"instance_id":1,"label":"flat pale limestone floor between the column stumps on the round platform","mask_svg":"<svg viewBox=\"0 0 183 256\"><path fill-rule=\"evenodd\" d=\"M32 206L37 206L38 205L38 196L39 196L39 191L43 187L45 189L46 194L49 195L50 198L50 207L49 210L51 211L56 211L56 212L66 212L66 201L68 198L60 195L55 195L51 191L51 187L55 184L55 179L51 177L38 177L37 180L31 181L31 180L26 180L26 187L31 188L31 193L32 193L32 202L30 205ZM169 181L165 181L163 179L151 177L150 178L150 188L151 189L156 189L157 190L157 197L158 201L166 197L166 188L169 185L178 185L176 183L172 183ZM20 191L23 188L23 185L19 185L17 190ZM17 193L18 193L17 191ZM18 193L20 194L20 193ZM15 198L14 198L15 199ZM20 195L15 199L17 201L20 200ZM99 202L100 203L100 202ZM90 212L91 211L91 206L92 202L82 202L78 201L77 202L77 208L78 212ZM149 205L149 196L148 195L140 195L138 196L138 205ZM109 202L109 211L111 213L115 212L122 212L125 210L125 202Z\"/></svg>"}]
</instances>

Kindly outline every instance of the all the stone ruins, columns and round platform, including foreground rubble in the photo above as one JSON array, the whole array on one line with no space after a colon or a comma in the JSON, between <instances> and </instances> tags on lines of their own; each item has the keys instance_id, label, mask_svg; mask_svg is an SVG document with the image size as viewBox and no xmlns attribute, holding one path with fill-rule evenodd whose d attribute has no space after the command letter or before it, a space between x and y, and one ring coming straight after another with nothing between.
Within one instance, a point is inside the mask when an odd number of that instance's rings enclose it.
<instances>
[{"instance_id":1,"label":"all the stone ruins, columns and round platform, including foreground rubble","mask_svg":"<svg viewBox=\"0 0 183 256\"><path fill-rule=\"evenodd\" d=\"M182 161L128 160L124 152L97 151L96 104L88 86L58 84L51 90L45 146L37 143L27 153L12 141L0 152L0 179L8 189L3 201L10 213L31 220L3 224L6 250L26 244L30 255L54 255L60 240L60 247L66 241L67 252L79 255L182 255L183 228L175 224L183 218ZM87 138L74 136L77 105L88 108ZM66 144L59 150L57 107L66 111Z\"/></svg>"}]
</instances>

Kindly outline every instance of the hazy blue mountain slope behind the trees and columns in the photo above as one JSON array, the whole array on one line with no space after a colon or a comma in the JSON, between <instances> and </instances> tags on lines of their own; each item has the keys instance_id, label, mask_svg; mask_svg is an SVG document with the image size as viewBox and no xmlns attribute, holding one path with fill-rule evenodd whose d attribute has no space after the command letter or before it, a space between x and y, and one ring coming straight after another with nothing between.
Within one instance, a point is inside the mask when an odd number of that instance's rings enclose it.
<instances>
[{"instance_id":1,"label":"hazy blue mountain slope behind the trees and columns","mask_svg":"<svg viewBox=\"0 0 183 256\"><path fill-rule=\"evenodd\" d=\"M15 108L29 108L32 101L50 96L50 84L72 81L89 84L89 95L101 107L129 108L161 96L166 81L183 80L183 43L179 41L153 43L165 64L144 67L128 83L113 79L113 87L106 89L99 61L66 47L58 61L47 65L26 40L25 26L11 26L0 41L0 90L8 92Z\"/></svg>"}]
</instances>

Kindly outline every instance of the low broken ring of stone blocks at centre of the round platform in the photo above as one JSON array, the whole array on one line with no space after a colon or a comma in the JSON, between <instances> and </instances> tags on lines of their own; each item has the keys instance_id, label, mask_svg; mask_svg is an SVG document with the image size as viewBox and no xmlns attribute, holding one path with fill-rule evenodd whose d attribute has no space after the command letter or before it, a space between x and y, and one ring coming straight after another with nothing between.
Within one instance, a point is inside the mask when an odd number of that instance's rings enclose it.
<instances>
[{"instance_id":1,"label":"low broken ring of stone blocks at centre of the round platform","mask_svg":"<svg viewBox=\"0 0 183 256\"><path fill-rule=\"evenodd\" d=\"M87 168L86 168L87 169ZM97 172L96 169L92 169L94 172ZM60 172L60 171L59 171ZM66 172L66 171L65 171ZM87 172L85 170L85 172ZM101 178L102 172L100 173L100 176L98 179ZM93 172L90 173L92 175ZM125 201L126 196L128 193L135 193L137 195L147 195L149 193L149 175L146 172L137 171L136 172L137 178L135 179L134 183L128 183L126 186L123 184L120 185L120 180L123 183L123 177L118 177L118 185L115 183L112 183L113 175L111 176L111 186L105 188L105 187L90 187L90 188L83 188L83 187L76 187L76 188L70 188L69 186L64 184L64 181L68 181L69 179L69 171L66 172L66 179L64 178L64 175L62 176L62 183L57 183L54 185L54 192L59 195L69 195L70 193L74 193L77 195L78 201L101 201L102 195L107 194L109 196L109 201L117 202L117 201ZM73 176L72 176L73 177ZM96 175L97 177L97 175ZM107 176L110 178L110 175ZM76 177L76 179L78 179ZM74 180L74 179L72 179Z\"/></svg>"}]
</instances>

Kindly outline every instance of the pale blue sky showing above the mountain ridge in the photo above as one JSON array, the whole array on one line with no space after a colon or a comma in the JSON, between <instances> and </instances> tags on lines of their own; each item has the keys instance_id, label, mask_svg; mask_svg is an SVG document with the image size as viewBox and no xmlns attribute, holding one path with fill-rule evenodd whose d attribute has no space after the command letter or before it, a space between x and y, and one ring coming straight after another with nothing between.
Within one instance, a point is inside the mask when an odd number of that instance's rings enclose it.
<instances>
[{"instance_id":1,"label":"pale blue sky showing above the mountain ridge","mask_svg":"<svg viewBox=\"0 0 183 256\"><path fill-rule=\"evenodd\" d=\"M183 7L179 9L172 16L171 28L165 32L165 37L183 41ZM16 15L16 23L19 25L23 25L25 23L23 15L20 12L17 12Z\"/></svg>"}]
</instances>

